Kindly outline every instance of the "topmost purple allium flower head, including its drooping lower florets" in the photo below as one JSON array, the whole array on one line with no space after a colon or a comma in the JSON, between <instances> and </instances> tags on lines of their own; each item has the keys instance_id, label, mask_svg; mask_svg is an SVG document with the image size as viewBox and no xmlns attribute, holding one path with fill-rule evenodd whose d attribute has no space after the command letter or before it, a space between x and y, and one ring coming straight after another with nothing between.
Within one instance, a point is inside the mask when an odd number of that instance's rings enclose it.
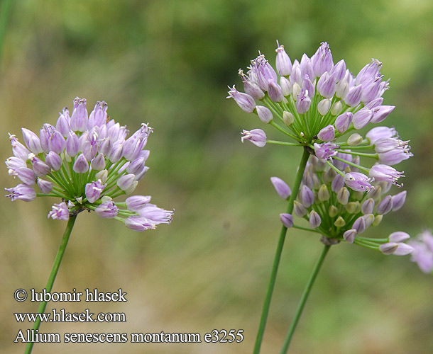
<instances>
[{"instance_id":1,"label":"topmost purple allium flower head, including its drooping lower florets","mask_svg":"<svg viewBox=\"0 0 433 354\"><path fill-rule=\"evenodd\" d=\"M373 181L398 185L402 172L391 166L412 156L408 141L400 139L395 129L384 126L373 127L365 137L359 134L369 123L385 120L395 108L383 105L388 81L380 74L382 63L372 59L353 76L344 60L334 64L326 42L312 57L303 55L300 62L292 62L283 45L278 45L276 52L276 69L259 55L246 74L239 70L245 92L233 86L228 98L295 139L295 144L309 148L321 161L338 159L343 162L341 166L358 168L344 176L349 188L368 192ZM348 132L353 133L342 139ZM243 130L242 142L245 140L258 147L266 143L294 145L268 140L261 129ZM376 159L378 164L362 166L361 156ZM338 165L334 167L339 169ZM339 171L346 173L344 169Z\"/></svg>"}]
</instances>

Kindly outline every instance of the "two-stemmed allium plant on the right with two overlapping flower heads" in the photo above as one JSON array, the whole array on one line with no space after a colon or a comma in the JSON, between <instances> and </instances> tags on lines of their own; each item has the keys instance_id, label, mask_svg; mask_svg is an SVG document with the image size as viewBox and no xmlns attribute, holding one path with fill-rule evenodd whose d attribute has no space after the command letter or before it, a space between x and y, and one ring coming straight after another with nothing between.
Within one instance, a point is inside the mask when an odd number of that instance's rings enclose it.
<instances>
[{"instance_id":1,"label":"two-stemmed allium plant on the right with two overlapping flower heads","mask_svg":"<svg viewBox=\"0 0 433 354\"><path fill-rule=\"evenodd\" d=\"M280 214L283 227L270 274L254 353L259 353L265 331L270 300L278 272L288 227L309 229L322 235L324 249L285 338L281 353L286 353L300 319L314 279L331 245L346 241L366 246L383 254L405 255L413 247L405 244L409 235L395 232L382 239L364 237L368 227L405 202L401 187L403 173L393 166L409 159L408 141L400 139L393 127L379 125L394 110L383 105L388 80L380 74L382 63L372 59L358 74L346 68L344 60L334 64L331 50L323 42L317 52L300 62L291 61L277 42L274 67L259 55L251 60L246 74L239 69L243 91L229 88L229 96L246 113L258 116L287 138L268 139L262 129L243 130L242 142L258 147L266 144L302 147L303 154L295 183L290 190L280 178L271 178L281 198L288 200ZM364 135L363 128L368 128ZM288 191L290 191L289 194ZM309 228L294 224L295 215L307 219Z\"/></svg>"}]
</instances>

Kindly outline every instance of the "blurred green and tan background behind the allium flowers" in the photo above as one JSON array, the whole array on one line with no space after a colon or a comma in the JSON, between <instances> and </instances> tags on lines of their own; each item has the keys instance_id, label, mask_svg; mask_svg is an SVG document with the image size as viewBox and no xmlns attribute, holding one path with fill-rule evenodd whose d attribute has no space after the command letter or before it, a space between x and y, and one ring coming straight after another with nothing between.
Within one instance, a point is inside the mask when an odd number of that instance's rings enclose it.
<instances>
[{"instance_id":1,"label":"blurred green and tan background behind the allium flowers","mask_svg":"<svg viewBox=\"0 0 433 354\"><path fill-rule=\"evenodd\" d=\"M115 220L80 215L54 291L97 287L128 292L126 303L48 304L48 311L125 312L124 324L42 324L49 332L177 332L243 329L242 343L36 344L33 353L251 353L285 202L270 176L293 182L295 148L241 144L240 132L262 127L226 100L226 85L258 50L270 62L275 40L291 59L331 46L356 74L371 58L390 77L385 120L410 139L407 202L370 236L413 236L433 227L433 2L366 1L10 1L0 62L1 159L7 133L54 123L75 96L88 108L104 100L109 115L136 130L155 129L150 171L138 193L175 208L170 226L136 233ZM4 11L5 1L0 6ZM2 18L1 21L4 21ZM269 130L268 130L269 131ZM0 174L0 185L16 185ZM45 286L65 222L47 220L55 200L0 199L0 351L13 343L13 312L35 312L13 292ZM263 353L278 353L321 244L288 233ZM433 278L409 257L334 246L324 263L290 353L432 353Z\"/></svg>"}]
</instances>

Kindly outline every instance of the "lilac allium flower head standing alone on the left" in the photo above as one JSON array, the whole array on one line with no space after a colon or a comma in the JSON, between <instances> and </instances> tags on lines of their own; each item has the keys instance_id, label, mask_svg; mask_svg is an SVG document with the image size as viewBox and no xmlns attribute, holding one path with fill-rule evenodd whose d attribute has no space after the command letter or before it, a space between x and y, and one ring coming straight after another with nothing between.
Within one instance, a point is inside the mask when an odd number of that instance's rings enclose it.
<instances>
[{"instance_id":1,"label":"lilac allium flower head standing alone on the left","mask_svg":"<svg viewBox=\"0 0 433 354\"><path fill-rule=\"evenodd\" d=\"M93 210L136 231L170 223L173 211L150 204L150 196L114 202L133 193L148 171L144 148L153 129L143 124L128 137L126 126L109 119L106 110L105 102L97 102L88 115L86 100L75 98L72 114L64 108L55 126L44 124L39 135L22 128L24 144L10 135L13 156L6 166L22 183L6 188L6 196L26 202L38 196L62 198L48 214L53 219Z\"/></svg>"}]
</instances>

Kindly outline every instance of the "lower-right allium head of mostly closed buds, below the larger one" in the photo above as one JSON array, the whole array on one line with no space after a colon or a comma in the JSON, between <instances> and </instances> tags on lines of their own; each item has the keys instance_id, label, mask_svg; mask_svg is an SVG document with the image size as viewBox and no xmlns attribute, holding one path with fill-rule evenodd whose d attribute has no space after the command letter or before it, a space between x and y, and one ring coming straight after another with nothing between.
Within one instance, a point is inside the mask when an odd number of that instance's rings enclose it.
<instances>
[{"instance_id":1,"label":"lower-right allium head of mostly closed buds, below the larger one","mask_svg":"<svg viewBox=\"0 0 433 354\"><path fill-rule=\"evenodd\" d=\"M358 173L354 167L342 166L341 161L334 163L346 171L345 176ZM290 197L290 188L283 180L273 177L271 181L281 198ZM294 202L295 215L306 219L312 230L324 236L325 243L347 241L398 256L412 253L412 246L404 242L410 237L405 232L393 232L386 239L361 236L369 227L380 224L386 214L399 210L406 192L388 194L393 185L388 181L373 181L368 190L354 190L346 185L344 176L311 156ZM285 227L293 227L292 215L283 213L280 220Z\"/></svg>"}]
</instances>

